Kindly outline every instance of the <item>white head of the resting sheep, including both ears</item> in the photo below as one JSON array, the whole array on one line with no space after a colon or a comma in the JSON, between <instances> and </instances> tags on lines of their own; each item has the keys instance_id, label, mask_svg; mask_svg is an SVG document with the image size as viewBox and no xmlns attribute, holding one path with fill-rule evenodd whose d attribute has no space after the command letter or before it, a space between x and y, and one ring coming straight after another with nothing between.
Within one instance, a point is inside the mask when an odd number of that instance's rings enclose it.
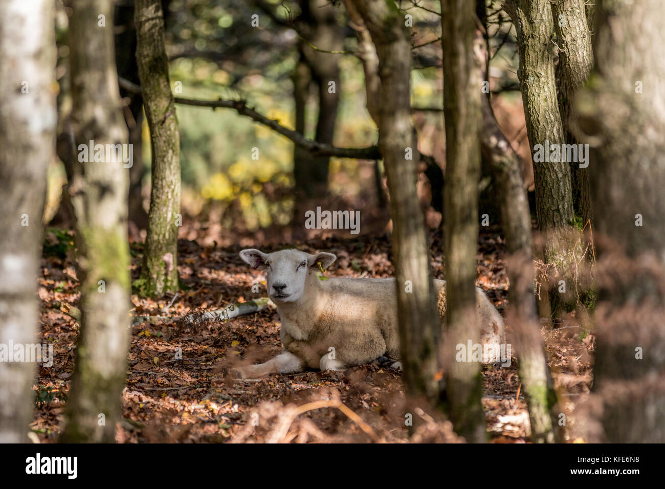
<instances>
[{"instance_id":1,"label":"white head of the resting sheep, including both ears","mask_svg":"<svg viewBox=\"0 0 665 489\"><path fill-rule=\"evenodd\" d=\"M308 273L324 269L337 257L332 253L310 255L297 249L283 249L274 253L263 253L258 249L243 249L240 257L254 269L267 270L267 287L270 298L277 302L293 302L300 299L305 290Z\"/></svg>"}]
</instances>

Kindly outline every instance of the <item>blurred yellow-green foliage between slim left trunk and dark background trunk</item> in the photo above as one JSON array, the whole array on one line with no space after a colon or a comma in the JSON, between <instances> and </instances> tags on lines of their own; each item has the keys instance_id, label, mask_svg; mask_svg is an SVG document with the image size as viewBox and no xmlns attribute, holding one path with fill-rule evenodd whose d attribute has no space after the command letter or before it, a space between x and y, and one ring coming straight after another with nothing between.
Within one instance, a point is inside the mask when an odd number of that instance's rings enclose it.
<instances>
[{"instance_id":1,"label":"blurred yellow-green foliage between slim left trunk and dark background trunk","mask_svg":"<svg viewBox=\"0 0 665 489\"><path fill-rule=\"evenodd\" d=\"M223 29L233 23L221 7L214 17ZM295 127L292 100L275 98L274 92L281 85L275 85L265 74L250 73L231 88L229 73L216 63L179 59L171 72L172 79L182 79L192 98L248 98L247 94L252 94L250 106L282 126ZM219 110L213 115L195 110L198 109L178 107L182 166L187 170L184 199L189 185L194 205L200 210L206 202L211 204L221 212L224 226L237 218L234 213L238 211L248 230L287 224L293 212L293 198L289 195L293 187L293 142L232 110ZM222 129L211 130L217 124ZM256 154L259 159L252 160Z\"/></svg>"}]
</instances>

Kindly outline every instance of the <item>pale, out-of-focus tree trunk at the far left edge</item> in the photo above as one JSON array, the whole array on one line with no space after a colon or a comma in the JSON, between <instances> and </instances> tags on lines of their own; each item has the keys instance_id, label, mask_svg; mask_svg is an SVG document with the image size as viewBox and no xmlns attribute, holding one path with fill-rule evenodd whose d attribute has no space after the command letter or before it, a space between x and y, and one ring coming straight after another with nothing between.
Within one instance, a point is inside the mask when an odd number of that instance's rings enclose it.
<instances>
[{"instance_id":1,"label":"pale, out-of-focus tree trunk at the far left edge","mask_svg":"<svg viewBox=\"0 0 665 489\"><path fill-rule=\"evenodd\" d=\"M37 337L46 173L55 158L55 4L0 3L0 344ZM27 441L35 363L0 361L0 443ZM39 363L42 363L41 361Z\"/></svg>"}]
</instances>

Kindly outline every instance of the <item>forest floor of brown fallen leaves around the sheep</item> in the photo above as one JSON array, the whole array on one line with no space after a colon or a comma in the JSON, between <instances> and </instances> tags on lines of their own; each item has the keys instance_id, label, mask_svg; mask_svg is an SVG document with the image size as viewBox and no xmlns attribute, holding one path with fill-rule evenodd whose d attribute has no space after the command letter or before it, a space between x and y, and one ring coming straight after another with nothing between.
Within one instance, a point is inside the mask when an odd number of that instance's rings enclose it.
<instances>
[{"instance_id":1,"label":"forest floor of brown fallen leaves around the sheep","mask_svg":"<svg viewBox=\"0 0 665 489\"><path fill-rule=\"evenodd\" d=\"M41 342L53 343L53 366L41 367L35 386L37 410L31 426L41 442L57 441L63 428L78 337L78 323L70 315L70 307L78 303L78 282L72 252L61 242L63 236L66 241L66 235L51 236L53 246L45 248L39 282ZM418 418L414 424L420 428L410 433L401 375L380 361L345 373L305 371L253 381L231 377L233 366L267 361L281 351L277 311L268 308L227 322L194 324L177 319L193 309L211 311L266 295L265 276L238 256L240 249L256 244L240 241L223 242L220 247L180 240L182 289L178 295L159 301L132 295L134 315L174 320L132 327L118 442L457 441L442 416L420 410L414 414ZM132 243L131 247L132 278L136 279L142 245ZM263 251L279 247L271 245ZM327 276L393 275L387 237L333 236L298 247L335 253L338 259ZM432 249L443 249L440 233L432 235ZM476 283L502 313L508 287L504 253L497 230L481 234ZM432 267L436 278L444 277L440 251L432 255ZM259 293L253 293L257 280L263 284ZM543 327L542 333L557 394L569 415L567 441L573 442L575 416L570 414L589 393L595 342L592 332L577 326L574 313L558 326ZM507 324L510 341L511 325ZM178 347L182 359L176 359ZM512 353L510 367L497 365L482 371L483 407L492 442L529 442L529 416Z\"/></svg>"}]
</instances>

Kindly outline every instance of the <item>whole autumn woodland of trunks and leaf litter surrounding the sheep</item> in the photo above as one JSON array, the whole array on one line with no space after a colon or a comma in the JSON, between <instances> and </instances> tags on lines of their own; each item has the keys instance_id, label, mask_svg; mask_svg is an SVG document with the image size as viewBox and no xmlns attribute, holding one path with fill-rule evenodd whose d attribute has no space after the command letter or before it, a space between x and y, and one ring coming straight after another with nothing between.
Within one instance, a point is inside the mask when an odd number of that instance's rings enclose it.
<instances>
[{"instance_id":1,"label":"whole autumn woodland of trunks and leaf litter surrounding the sheep","mask_svg":"<svg viewBox=\"0 0 665 489\"><path fill-rule=\"evenodd\" d=\"M657 0L3 3L0 344L54 364L0 361L0 441L664 441L664 37ZM287 246L412 281L403 374L233 379L279 315L203 312ZM453 361L475 285L511 367Z\"/></svg>"}]
</instances>

